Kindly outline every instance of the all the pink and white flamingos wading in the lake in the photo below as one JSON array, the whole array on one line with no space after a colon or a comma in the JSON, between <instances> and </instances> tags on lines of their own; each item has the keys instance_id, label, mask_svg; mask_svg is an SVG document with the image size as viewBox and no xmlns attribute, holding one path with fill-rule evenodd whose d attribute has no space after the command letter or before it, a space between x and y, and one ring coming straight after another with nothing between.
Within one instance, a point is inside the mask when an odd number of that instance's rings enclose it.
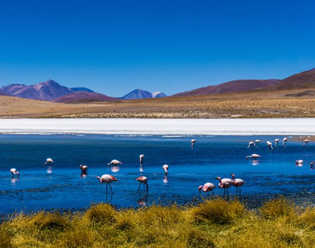
<instances>
[{"instance_id":1,"label":"all the pink and white flamingos wading in the lake","mask_svg":"<svg viewBox=\"0 0 315 248\"><path fill-rule=\"evenodd\" d=\"M288 140L288 138L285 137L284 141L283 141L283 144L282 144L283 146L286 145L287 140ZM191 148L192 149L193 149L193 146L194 146L195 142L196 142L195 139L191 140ZM247 148L250 149L250 148L253 148L254 146L258 146L259 142L260 142L260 140L255 140L255 142L250 142L249 146ZM279 142L279 139L275 139L275 146L278 146L278 142ZM303 146L309 145L309 142L310 142L310 140L308 140L308 139L304 140ZM270 141L267 141L266 143L267 143L268 149L273 150L272 143ZM144 155L142 154L139 157L140 157L140 164L142 164L143 159L144 159ZM258 157L261 157L261 156L258 155L258 154L252 154L250 156L246 156L246 159L248 159L250 157L252 159L257 159ZM47 160L44 163L44 165L46 165L46 164L51 165L52 162L54 162L53 159L47 158ZM108 163L108 166L111 166L111 165L116 166L116 165L122 164L122 163L123 162L120 162L119 160L114 159L110 163ZM303 164L303 160L302 159L296 160L295 163L296 163L297 166L298 165L302 165ZM162 168L163 168L163 170L165 172L165 176L167 176L168 165L164 164L162 166ZM82 172L87 172L88 166L80 165L80 169L81 169ZM315 163L313 163L313 162L311 163L311 169L312 170L315 169ZM19 175L20 175L20 173L15 168L12 168L10 170L10 172L12 173L13 177L15 177L15 175L17 175L17 177L19 177ZM219 180L219 185L218 186L220 188L224 188L224 195L223 195L223 197L225 196L225 190L227 190L227 197L228 197L228 188L230 186L235 186L236 187L236 194L238 193L238 189L239 189L239 192L241 194L241 186L245 185L245 182L242 179L238 179L238 178L235 179L235 175L234 174L230 174L230 175L232 176L232 179L230 179L230 178L223 178L223 179L221 179L221 177L216 177L216 179ZM107 188L109 186L110 189L111 189L111 193L113 193L113 190L112 190L112 187L111 187L110 184L115 182L115 181L118 181L115 177L113 177L113 176L111 176L109 174L104 174L101 177L97 176L96 178L99 180L100 183L105 183L106 184L106 192L107 192ZM143 189L148 191L149 186L148 186L148 178L147 177L144 177L144 176L138 177L136 179L136 181L138 181L140 183L138 190L140 190L140 186L141 186L141 184L143 184ZM145 189L145 186L146 186L146 189ZM207 192L208 195L209 195L209 192L211 191L212 195L213 195L214 194L213 190L214 190L215 187L216 186L214 184L212 184L212 183L206 183L203 186L202 185L199 186L198 190L199 190L199 192L201 192L201 190L203 192Z\"/></svg>"}]
</instances>

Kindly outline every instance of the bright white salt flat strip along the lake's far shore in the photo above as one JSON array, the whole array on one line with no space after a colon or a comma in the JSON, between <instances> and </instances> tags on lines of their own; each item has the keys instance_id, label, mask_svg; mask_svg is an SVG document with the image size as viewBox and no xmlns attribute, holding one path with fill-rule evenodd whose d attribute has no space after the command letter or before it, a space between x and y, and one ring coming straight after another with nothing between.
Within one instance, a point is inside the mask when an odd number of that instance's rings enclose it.
<instances>
[{"instance_id":1,"label":"bright white salt flat strip along the lake's far shore","mask_svg":"<svg viewBox=\"0 0 315 248\"><path fill-rule=\"evenodd\" d=\"M313 135L315 118L297 119L0 119L0 133L154 135Z\"/></svg>"}]
</instances>

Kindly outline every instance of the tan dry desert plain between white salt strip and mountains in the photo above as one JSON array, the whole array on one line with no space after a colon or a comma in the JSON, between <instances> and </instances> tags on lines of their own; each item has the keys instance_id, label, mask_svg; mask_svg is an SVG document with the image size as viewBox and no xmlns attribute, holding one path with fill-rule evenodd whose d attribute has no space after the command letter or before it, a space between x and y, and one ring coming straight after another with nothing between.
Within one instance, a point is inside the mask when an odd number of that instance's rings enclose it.
<instances>
[{"instance_id":1,"label":"tan dry desert plain between white salt strip and mountains","mask_svg":"<svg viewBox=\"0 0 315 248\"><path fill-rule=\"evenodd\" d=\"M0 118L315 117L315 96L285 96L302 91L229 93L75 104L0 96Z\"/></svg>"}]
</instances>

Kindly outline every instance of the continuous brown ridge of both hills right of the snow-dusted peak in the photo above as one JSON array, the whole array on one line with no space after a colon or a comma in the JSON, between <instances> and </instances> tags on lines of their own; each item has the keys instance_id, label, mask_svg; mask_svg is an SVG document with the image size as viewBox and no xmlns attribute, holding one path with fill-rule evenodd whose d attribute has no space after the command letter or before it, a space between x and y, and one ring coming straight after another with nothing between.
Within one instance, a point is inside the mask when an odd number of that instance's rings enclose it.
<instances>
[{"instance_id":1,"label":"continuous brown ridge of both hills right of the snow-dusted peak","mask_svg":"<svg viewBox=\"0 0 315 248\"><path fill-rule=\"evenodd\" d=\"M172 96L189 96L248 91L279 91L315 88L315 68L294 74L285 79L234 80L219 85L211 85Z\"/></svg>"}]
</instances>

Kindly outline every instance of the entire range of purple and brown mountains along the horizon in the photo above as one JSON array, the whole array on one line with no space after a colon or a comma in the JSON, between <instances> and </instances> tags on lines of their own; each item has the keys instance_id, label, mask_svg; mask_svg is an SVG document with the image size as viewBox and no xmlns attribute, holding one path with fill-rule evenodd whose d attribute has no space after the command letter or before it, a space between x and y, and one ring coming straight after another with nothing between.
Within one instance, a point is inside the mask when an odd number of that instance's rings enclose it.
<instances>
[{"instance_id":1,"label":"entire range of purple and brown mountains along the horizon","mask_svg":"<svg viewBox=\"0 0 315 248\"><path fill-rule=\"evenodd\" d=\"M294 74L285 79L267 80L234 80L219 85L211 85L195 90L177 93L172 96L189 96L238 92L266 92L280 90L315 89L315 68ZM313 93L312 93L313 94ZM24 84L10 84L0 88L0 95L17 96L30 99L48 100L53 102L91 102L111 101L119 99L159 98L166 95L161 92L148 92L136 89L121 98L107 96L85 87L68 88L53 80L26 86ZM295 93L296 96L310 95L309 92Z\"/></svg>"}]
</instances>

